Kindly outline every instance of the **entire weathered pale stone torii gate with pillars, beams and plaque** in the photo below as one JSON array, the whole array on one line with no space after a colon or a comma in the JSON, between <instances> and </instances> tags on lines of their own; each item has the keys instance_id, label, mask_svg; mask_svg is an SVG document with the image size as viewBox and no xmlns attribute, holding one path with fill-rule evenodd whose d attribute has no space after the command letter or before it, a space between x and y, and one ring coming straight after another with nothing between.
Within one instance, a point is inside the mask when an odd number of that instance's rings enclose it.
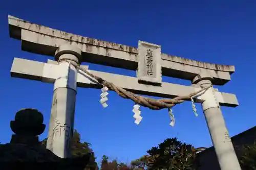
<instances>
[{"instance_id":1,"label":"entire weathered pale stone torii gate with pillars, beams and plaque","mask_svg":"<svg viewBox=\"0 0 256 170\"><path fill-rule=\"evenodd\" d=\"M90 62L137 70L137 78L88 70L91 74L137 94L175 98L207 85L224 85L234 66L183 59L161 53L161 46L139 41L138 48L51 29L8 16L11 38L22 42L22 50L55 57L48 63L14 58L11 76L54 83L47 148L55 155L70 156L77 87L101 88L95 79L77 71L75 64ZM69 61L69 62L64 62ZM162 82L162 75L190 80L191 86ZM220 106L236 107L236 95L208 88L194 98L201 103L222 170L240 170ZM61 134L62 133L62 134Z\"/></svg>"}]
</instances>

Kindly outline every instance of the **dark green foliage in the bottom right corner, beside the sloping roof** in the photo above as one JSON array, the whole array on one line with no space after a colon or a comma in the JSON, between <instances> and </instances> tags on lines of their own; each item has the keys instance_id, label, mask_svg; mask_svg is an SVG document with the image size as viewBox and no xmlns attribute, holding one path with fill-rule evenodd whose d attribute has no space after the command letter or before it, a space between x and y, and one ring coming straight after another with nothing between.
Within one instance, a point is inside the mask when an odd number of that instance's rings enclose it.
<instances>
[{"instance_id":1,"label":"dark green foliage in the bottom right corner, beside the sloping roof","mask_svg":"<svg viewBox=\"0 0 256 170\"><path fill-rule=\"evenodd\" d=\"M244 145L242 148L242 156L240 158L242 169L256 169L256 142Z\"/></svg>"}]
</instances>

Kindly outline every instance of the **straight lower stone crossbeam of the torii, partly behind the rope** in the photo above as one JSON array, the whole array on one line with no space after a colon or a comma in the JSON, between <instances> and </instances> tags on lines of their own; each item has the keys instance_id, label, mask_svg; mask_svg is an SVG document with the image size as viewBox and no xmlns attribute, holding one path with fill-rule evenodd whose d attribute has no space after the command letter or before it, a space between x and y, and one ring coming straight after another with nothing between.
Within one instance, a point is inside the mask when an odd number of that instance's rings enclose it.
<instances>
[{"instance_id":1,"label":"straight lower stone crossbeam of the torii, partly behind the rope","mask_svg":"<svg viewBox=\"0 0 256 170\"><path fill-rule=\"evenodd\" d=\"M58 75L56 75L55 66L56 64L48 64L32 60L14 58L11 69L11 76L54 83L55 79L58 78ZM175 98L176 96L187 95L201 89L193 86L184 86L166 82L162 82L161 87L151 86L138 83L138 80L135 77L115 75L108 72L94 70L89 71L106 81L114 83L118 87L122 87L137 94L153 95L162 98ZM90 78L90 76L83 74L80 71L77 75L77 86L86 88L102 88L93 78ZM221 106L238 106L238 100L235 94L216 91L215 95ZM203 101L200 97L197 99L198 100L196 102L201 103Z\"/></svg>"}]
</instances>

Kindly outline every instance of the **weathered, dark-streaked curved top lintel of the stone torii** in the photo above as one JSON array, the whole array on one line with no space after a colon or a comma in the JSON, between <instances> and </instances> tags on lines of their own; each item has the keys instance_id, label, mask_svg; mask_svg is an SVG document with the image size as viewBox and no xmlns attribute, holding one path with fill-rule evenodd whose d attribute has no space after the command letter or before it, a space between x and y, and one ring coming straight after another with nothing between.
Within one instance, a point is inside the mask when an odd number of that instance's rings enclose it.
<instances>
[{"instance_id":1,"label":"weathered, dark-streaked curved top lintel of the stone torii","mask_svg":"<svg viewBox=\"0 0 256 170\"><path fill-rule=\"evenodd\" d=\"M138 48L83 37L19 19L8 15L10 37L22 41L22 50L54 56L58 46L65 43L77 45L82 50L84 62L136 70ZM162 75L193 80L206 71L214 85L224 85L231 78L234 66L205 63L181 57L161 54Z\"/></svg>"}]
</instances>

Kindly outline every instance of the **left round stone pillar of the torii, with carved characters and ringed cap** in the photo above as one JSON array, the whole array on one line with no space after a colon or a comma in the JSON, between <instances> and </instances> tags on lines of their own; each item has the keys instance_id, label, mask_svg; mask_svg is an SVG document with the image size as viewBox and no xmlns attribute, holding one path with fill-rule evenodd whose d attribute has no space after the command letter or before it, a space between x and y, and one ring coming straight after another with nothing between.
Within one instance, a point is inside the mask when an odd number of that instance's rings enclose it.
<instances>
[{"instance_id":1,"label":"left round stone pillar of the torii, with carved characters and ringed cap","mask_svg":"<svg viewBox=\"0 0 256 170\"><path fill-rule=\"evenodd\" d=\"M60 158L67 158L71 156L74 130L77 90L75 65L81 62L81 50L70 44L60 45L56 50L55 60L58 61L58 76L54 82L47 149Z\"/></svg>"}]
</instances>

